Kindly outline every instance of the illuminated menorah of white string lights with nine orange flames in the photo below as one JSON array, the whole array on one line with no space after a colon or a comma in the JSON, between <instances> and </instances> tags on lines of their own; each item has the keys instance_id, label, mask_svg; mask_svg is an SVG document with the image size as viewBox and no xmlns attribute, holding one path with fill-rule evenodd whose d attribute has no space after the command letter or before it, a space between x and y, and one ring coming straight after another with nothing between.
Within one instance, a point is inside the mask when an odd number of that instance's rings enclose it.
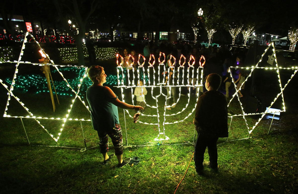
<instances>
[{"instance_id":1,"label":"illuminated menorah of white string lights with nine orange flames","mask_svg":"<svg viewBox=\"0 0 298 194\"><path fill-rule=\"evenodd\" d=\"M161 57L163 56L163 61L161 61ZM188 61L188 66L187 67L187 75L184 75L184 64L186 62L186 58L185 56L181 55L180 56L180 59L179 59L179 67L177 67L175 69L175 64L176 64L176 58L172 55L170 55L170 59L167 61L168 62L168 65L169 67L166 68L166 66L164 65L164 62L166 60L165 58L165 54L160 52L159 53L159 58L158 58L158 61L159 61L159 65L158 65L158 74L156 74L156 70L154 69L153 65L155 64L155 57L154 55L150 55L150 58L149 58L149 61L148 61L148 69L147 69L147 73L145 72L145 67L144 67L144 64L145 64L145 57L140 55L139 54L139 59L138 59L138 64L139 66L137 67L136 71L137 71L137 79L136 79L136 76L135 76L135 69L133 67L133 64L134 64L134 57L129 55L128 56L128 60L127 61L124 61L123 57L119 54L116 55L117 57L117 80L118 80L118 86L115 86L115 87L118 87L118 88L121 88L121 94L122 94L122 101L124 102L125 99L124 99L124 94L123 94L123 88L125 89L131 89L131 97L132 97L132 102L134 104L134 91L133 89L136 88L136 87L141 87L141 90L142 90L142 93L143 93L143 88L151 88L151 96L153 98L153 100L156 101L156 104L155 105L150 105L146 102L146 100L144 99L144 102L145 102L145 105L147 107L151 107L151 108L154 108L156 109L156 115L148 115L148 114L144 114L144 113L141 113L143 116L148 116L148 117L157 117L157 123L146 123L146 122L141 122L139 121L140 123L143 123L143 124L149 124L149 125L157 125L158 126L158 130L159 130L159 134L158 136L154 139L155 141L159 141L159 140L169 140L169 137L167 137L165 135L165 128L164 128L164 125L166 124L175 124L175 123L179 123L179 122L182 122L184 121L185 119L187 119L192 113L193 111L195 110L195 107L196 107L196 103L194 105L194 108L192 109L192 111L190 113L188 113L188 115L182 119L182 120L177 120L177 121L172 121L172 122L166 122L166 117L167 116L174 116L174 115L177 115L177 114L180 114L182 112L184 112L186 110L186 108L188 107L188 105L190 104L190 89L191 87L199 87L199 86L203 86L202 85L202 80L203 80L203 66L205 64L205 57L204 56L201 56L200 58L200 66L198 68L195 68L194 67L194 64L195 64L195 58L194 56L190 55L190 59ZM140 58L143 58L143 61L142 64L140 63ZM121 62L119 62L119 58L121 59ZM132 62L128 62L130 59L132 59L131 61ZM183 60L182 60L183 59ZM201 63L201 60L203 59L203 63ZM173 60L173 62L172 62ZM122 64L126 62L127 64L127 72L124 72L123 71L123 67L122 67ZM178 66L178 65L176 65ZM162 75L160 74L161 72L165 72L167 70L167 72L170 72L173 71L173 76L175 75L175 71L178 72L178 75L177 75L177 82L174 83L173 82L167 82L166 81L166 75L165 73L163 73ZM194 72L196 71L196 77L194 77ZM201 74L200 74L200 79L199 79L199 71L201 71ZM141 72L141 73L140 73ZM190 73L191 73L191 76L190 76ZM124 75L126 74L126 75ZM120 76L122 75L122 76ZM148 83L146 84L146 81L145 81L145 78L146 78L146 75L148 77ZM186 76L186 77L185 77ZM124 82L124 77L127 78L127 81ZM187 78L187 85L184 85L184 79ZM192 83L190 83L190 79L189 78L192 78ZM196 81L194 83L194 78L196 78ZM172 78L173 79L173 78ZM137 81L135 80L143 80L144 82L144 85L143 86L137 86L136 83ZM156 83L157 82L157 83ZM173 87L178 87L179 89L179 96L177 98L177 102L172 105L168 105L167 102L168 100L170 99L170 95L165 95L164 93L162 93L162 87L169 87L170 89L170 94L172 93L171 90L173 89ZM189 92L188 92L188 98L187 98L187 104L185 105L184 108L182 108L180 111L176 112L176 113L173 113L173 114L166 114L166 111L167 111L167 108L170 108L172 106L175 106L179 100L180 100L180 97L181 97L181 87L183 86L188 86L189 87ZM155 91L157 91L154 95L153 95L153 89ZM160 97L160 96L164 96L165 98L165 103L164 103L164 112L163 112L163 122L162 122L162 130L160 129L161 126L160 126L160 115L161 113L159 112L159 109L158 109L158 100L157 98ZM198 94L196 95L198 96ZM126 112L128 113L128 115L130 117L132 117L128 110L126 110ZM160 138L160 135L164 135L163 138Z\"/></svg>"}]
</instances>

